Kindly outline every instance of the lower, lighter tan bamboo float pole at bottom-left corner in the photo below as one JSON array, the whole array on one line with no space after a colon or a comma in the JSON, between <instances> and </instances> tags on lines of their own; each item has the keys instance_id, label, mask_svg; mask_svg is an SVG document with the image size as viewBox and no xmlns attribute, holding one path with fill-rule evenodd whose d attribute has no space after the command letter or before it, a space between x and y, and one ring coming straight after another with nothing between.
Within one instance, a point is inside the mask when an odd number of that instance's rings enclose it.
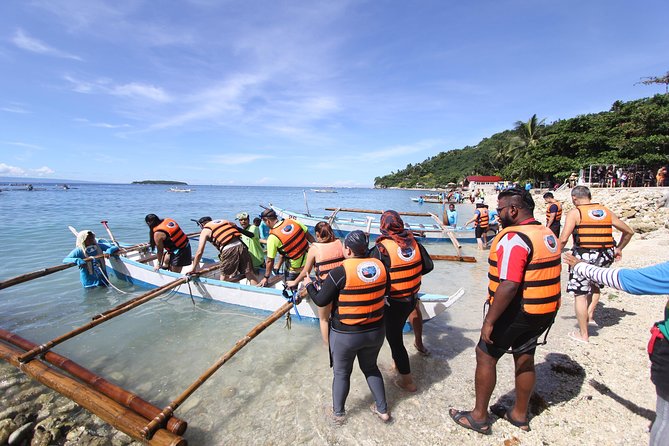
<instances>
[{"instance_id":1,"label":"lower, lighter tan bamboo float pole at bottom-left corner","mask_svg":"<svg viewBox=\"0 0 669 446\"><path fill-rule=\"evenodd\" d=\"M146 418L102 393L47 366L40 360L21 364L19 354L19 350L0 343L0 359L4 359L13 366L20 368L26 375L66 396L132 438L146 441L141 433L142 427L148 421ZM149 444L152 446L186 446L188 442L181 436L160 429L153 435Z\"/></svg>"}]
</instances>

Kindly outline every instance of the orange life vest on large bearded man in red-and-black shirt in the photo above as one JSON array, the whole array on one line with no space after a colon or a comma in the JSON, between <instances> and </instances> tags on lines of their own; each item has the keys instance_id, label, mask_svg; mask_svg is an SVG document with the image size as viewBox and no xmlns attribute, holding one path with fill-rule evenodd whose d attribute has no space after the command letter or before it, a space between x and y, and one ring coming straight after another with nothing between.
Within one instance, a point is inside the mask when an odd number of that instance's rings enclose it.
<instances>
[{"instance_id":1,"label":"orange life vest on large bearded man in red-and-black shirt","mask_svg":"<svg viewBox=\"0 0 669 446\"><path fill-rule=\"evenodd\" d=\"M526 225L511 226L500 232L490 247L488 257L488 300L495 298L495 291L499 286L499 269L497 266L497 245L506 234L518 233L530 247L529 262L525 266L523 282L518 287L517 298L528 314L550 314L560 308L560 273L562 264L560 246L553 231L533 222Z\"/></svg>"}]
</instances>

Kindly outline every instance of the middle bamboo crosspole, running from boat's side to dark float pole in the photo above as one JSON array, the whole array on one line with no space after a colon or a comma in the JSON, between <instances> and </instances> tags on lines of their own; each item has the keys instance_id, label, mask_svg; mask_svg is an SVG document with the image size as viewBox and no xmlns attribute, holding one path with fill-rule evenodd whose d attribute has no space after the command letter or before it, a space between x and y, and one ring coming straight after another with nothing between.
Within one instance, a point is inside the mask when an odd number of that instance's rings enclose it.
<instances>
[{"instance_id":1,"label":"middle bamboo crosspole, running from boat's side to dark float pole","mask_svg":"<svg viewBox=\"0 0 669 446\"><path fill-rule=\"evenodd\" d=\"M197 276L197 275L201 275L201 274L206 274L206 273L209 273L211 271L215 271L215 270L219 269L221 266L222 265L220 263L216 263L213 266L210 266L209 268L204 268L200 271L197 271L197 272L193 273L193 275ZM56 345L61 344L65 341L67 341L68 339L71 339L71 338L75 337L76 335L81 334L81 333L83 333L87 330L90 330L91 328L96 327L96 326L100 325L101 323L103 323L105 321L113 319L116 316L120 316L121 314L126 313L126 312L132 310L133 308L138 307L141 304L143 304L145 302L148 302L155 297L160 296L165 291L170 290L172 288L176 288L179 285L188 282L190 279L191 279L190 277L181 277L181 278L179 278L177 280L174 280L172 282L169 282L169 283L167 283L167 284L165 284L165 285L163 285L159 288L156 288L155 290L151 290L148 293L144 293L139 297L131 299L131 300L119 305L114 310L105 314L104 316L100 315L100 317L82 325L79 328L75 328L74 330L72 330L68 333L65 333L64 335L58 336L57 338L54 338L54 339L50 340L46 344L42 344L42 345L40 345L36 348L31 349L30 351L28 351L28 352L22 354L21 356L19 356L19 361L22 362L22 363L30 361L35 356L37 356L41 353L44 353L48 350L51 350Z\"/></svg>"}]
</instances>

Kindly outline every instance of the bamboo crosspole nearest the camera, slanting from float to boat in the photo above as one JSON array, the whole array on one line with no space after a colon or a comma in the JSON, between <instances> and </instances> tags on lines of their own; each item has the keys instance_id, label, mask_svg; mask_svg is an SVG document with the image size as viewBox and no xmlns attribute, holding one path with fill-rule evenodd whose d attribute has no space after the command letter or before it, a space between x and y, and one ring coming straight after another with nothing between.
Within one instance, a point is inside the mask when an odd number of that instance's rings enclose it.
<instances>
[{"instance_id":1,"label":"bamboo crosspole nearest the camera, slanting from float to boat","mask_svg":"<svg viewBox=\"0 0 669 446\"><path fill-rule=\"evenodd\" d=\"M274 322L276 322L281 316L286 314L287 312L290 311L291 308L293 308L293 305L298 305L302 299L299 296L295 296L295 304L293 302L286 302L283 304L278 310L276 310L274 313L272 313L267 319L253 327L251 331L248 332L246 336L244 336L242 339L237 341L234 347L230 349L226 354L221 356L209 369L207 369L206 372L202 374L193 384L191 384L181 395L179 395L174 401L172 401L169 405L167 405L161 413L158 414L151 422L144 428L142 429L142 434L144 435L144 438L146 439L151 439L153 436L154 432L156 432L158 429L160 429L164 424L165 420L170 418L172 414L174 413L175 410L181 404L183 404L186 399L193 394L204 382L211 377L218 369L220 369L223 364L228 362L230 358L232 358L239 350L244 348L246 344L251 342L253 338L258 336L260 333L263 332L267 327L272 325Z\"/></svg>"}]
</instances>

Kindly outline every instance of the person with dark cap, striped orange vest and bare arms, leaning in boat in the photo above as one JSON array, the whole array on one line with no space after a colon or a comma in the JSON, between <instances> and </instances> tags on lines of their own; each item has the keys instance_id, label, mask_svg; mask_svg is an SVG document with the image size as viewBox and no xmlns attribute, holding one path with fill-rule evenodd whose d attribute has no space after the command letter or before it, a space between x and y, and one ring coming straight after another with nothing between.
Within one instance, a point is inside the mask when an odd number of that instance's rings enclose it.
<instances>
[{"instance_id":1,"label":"person with dark cap, striped orange vest and bare arms, leaning in boat","mask_svg":"<svg viewBox=\"0 0 669 446\"><path fill-rule=\"evenodd\" d=\"M218 258L223 264L221 280L233 281L238 273L242 273L251 285L256 285L258 278L253 272L253 261L249 254L249 248L242 242L242 235L253 238L254 234L227 220L212 220L211 217L202 217L197 222L202 228L202 232L200 232L200 243L195 258L193 258L192 272L198 270L204 248L209 241L218 249Z\"/></svg>"}]
</instances>

